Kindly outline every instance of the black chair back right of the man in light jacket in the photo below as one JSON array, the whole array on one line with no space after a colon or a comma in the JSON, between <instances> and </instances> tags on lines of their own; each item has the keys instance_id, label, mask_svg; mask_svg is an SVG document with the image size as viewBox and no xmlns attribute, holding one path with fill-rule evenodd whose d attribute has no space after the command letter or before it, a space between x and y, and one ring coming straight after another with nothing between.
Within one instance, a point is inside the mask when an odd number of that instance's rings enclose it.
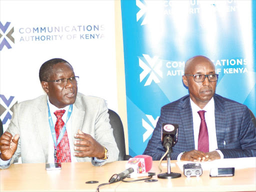
<instances>
[{"instance_id":1,"label":"black chair back right of the man in light jacket","mask_svg":"<svg viewBox=\"0 0 256 192\"><path fill-rule=\"evenodd\" d=\"M118 160L128 160L132 156L127 155L125 152L125 142L124 142L124 132L123 132L122 121L119 115L113 110L108 109L108 114L109 114L109 120L110 120L109 122L111 124L111 127L113 128L114 139L119 149Z\"/></svg>"}]
</instances>

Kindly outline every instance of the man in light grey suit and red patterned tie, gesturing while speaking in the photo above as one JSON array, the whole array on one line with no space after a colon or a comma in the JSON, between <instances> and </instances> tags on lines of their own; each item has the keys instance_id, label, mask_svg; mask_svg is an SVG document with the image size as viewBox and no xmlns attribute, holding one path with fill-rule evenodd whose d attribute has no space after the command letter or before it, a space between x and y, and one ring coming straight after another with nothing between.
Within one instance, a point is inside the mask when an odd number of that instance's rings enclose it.
<instances>
[{"instance_id":1,"label":"man in light grey suit and red patterned tie, gesturing while speaking","mask_svg":"<svg viewBox=\"0 0 256 192\"><path fill-rule=\"evenodd\" d=\"M79 77L72 66L61 58L50 59L41 65L39 78L47 95L14 105L0 137L0 168L20 155L22 163L91 161L100 166L117 160L105 102L77 92Z\"/></svg>"}]
</instances>

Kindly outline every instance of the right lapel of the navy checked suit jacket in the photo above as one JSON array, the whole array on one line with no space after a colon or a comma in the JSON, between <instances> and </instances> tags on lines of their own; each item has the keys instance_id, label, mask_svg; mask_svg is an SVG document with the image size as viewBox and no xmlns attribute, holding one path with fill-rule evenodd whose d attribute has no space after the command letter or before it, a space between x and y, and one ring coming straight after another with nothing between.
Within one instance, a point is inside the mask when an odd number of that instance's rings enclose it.
<instances>
[{"instance_id":1,"label":"right lapel of the navy checked suit jacket","mask_svg":"<svg viewBox=\"0 0 256 192\"><path fill-rule=\"evenodd\" d=\"M216 127L216 137L218 148L224 148L224 137L225 137L225 127L226 127L226 114L223 112L224 105L221 102L221 98L217 95L213 96L214 107L215 107L215 127Z\"/></svg>"}]
</instances>

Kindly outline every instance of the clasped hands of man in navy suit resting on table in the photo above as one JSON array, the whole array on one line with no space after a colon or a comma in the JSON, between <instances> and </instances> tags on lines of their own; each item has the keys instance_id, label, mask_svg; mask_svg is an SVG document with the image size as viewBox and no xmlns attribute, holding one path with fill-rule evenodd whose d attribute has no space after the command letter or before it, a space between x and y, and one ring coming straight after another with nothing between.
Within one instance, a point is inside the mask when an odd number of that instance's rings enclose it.
<instances>
[{"instance_id":1,"label":"clasped hands of man in navy suit resting on table","mask_svg":"<svg viewBox=\"0 0 256 192\"><path fill-rule=\"evenodd\" d=\"M206 153L199 150L190 150L190 151L184 152L181 156L181 160L188 160L193 162L211 161L219 158L220 158L220 155L216 150L206 152Z\"/></svg>"}]
</instances>

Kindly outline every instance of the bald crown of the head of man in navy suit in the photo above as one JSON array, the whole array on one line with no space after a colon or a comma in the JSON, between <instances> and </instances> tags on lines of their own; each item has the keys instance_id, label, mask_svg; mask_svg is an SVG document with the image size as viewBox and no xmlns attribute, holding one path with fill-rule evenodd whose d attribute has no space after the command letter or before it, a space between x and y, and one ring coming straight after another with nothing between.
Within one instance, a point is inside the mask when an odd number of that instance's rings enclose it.
<instances>
[{"instance_id":1,"label":"bald crown of the head of man in navy suit","mask_svg":"<svg viewBox=\"0 0 256 192\"><path fill-rule=\"evenodd\" d=\"M212 67L214 68L215 70L215 66L214 64L212 63L212 61L206 57L206 56L203 56L203 55L197 55L197 56L193 56L191 58L189 58L186 63L185 63L185 67L184 67L184 74L191 74L191 70L193 68L195 68L195 66L198 64L198 63L202 63L202 62L207 62L207 63L210 63L212 65Z\"/></svg>"}]
</instances>

